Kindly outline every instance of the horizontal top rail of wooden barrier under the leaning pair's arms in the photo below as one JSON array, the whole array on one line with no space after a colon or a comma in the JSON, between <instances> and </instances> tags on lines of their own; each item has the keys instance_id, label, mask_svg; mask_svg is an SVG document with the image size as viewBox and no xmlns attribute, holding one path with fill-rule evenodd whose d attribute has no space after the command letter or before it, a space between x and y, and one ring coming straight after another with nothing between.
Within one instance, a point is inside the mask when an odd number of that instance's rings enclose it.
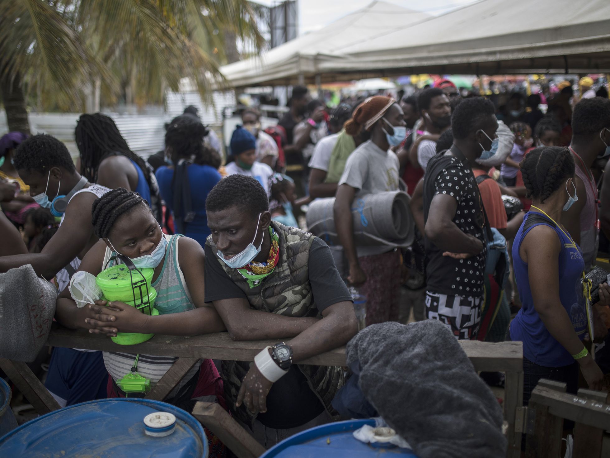
<instances>
[{"instance_id":1,"label":"horizontal top rail of wooden barrier under the leaning pair's arms","mask_svg":"<svg viewBox=\"0 0 610 458\"><path fill-rule=\"evenodd\" d=\"M101 351L128 351L159 356L187 358L212 358L220 360L254 361L264 347L281 339L257 341L233 341L227 332L198 336L156 335L142 344L129 347L113 343L105 336L93 335L86 330L66 329L54 323L48 345L54 347L82 348ZM523 346L520 342L487 343L459 341L476 371L523 371ZM345 366L345 347L339 347L309 358L303 364L318 366Z\"/></svg>"}]
</instances>

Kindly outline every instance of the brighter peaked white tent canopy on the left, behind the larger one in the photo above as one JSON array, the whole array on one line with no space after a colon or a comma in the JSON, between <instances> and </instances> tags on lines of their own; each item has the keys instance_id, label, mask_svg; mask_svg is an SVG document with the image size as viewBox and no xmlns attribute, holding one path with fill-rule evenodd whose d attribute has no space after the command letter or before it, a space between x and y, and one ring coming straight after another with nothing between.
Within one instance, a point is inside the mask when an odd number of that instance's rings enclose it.
<instances>
[{"instance_id":1,"label":"brighter peaked white tent canopy on the left, behind the larger one","mask_svg":"<svg viewBox=\"0 0 610 458\"><path fill-rule=\"evenodd\" d=\"M261 56L224 65L220 71L234 87L296 84L299 75L307 81L314 81L315 75L321 73L321 63L342 60L336 56L337 49L371 40L389 29L406 27L429 17L426 13L375 1L318 31L284 43ZM337 81L328 70L325 73L321 81Z\"/></svg>"}]
</instances>

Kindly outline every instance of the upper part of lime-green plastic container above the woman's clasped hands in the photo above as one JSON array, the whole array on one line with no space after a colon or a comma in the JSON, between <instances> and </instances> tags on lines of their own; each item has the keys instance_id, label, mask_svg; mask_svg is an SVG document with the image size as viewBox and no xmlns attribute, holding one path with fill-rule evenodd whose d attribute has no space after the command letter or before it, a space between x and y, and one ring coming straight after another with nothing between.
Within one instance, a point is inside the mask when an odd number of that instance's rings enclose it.
<instances>
[{"instance_id":1,"label":"upper part of lime-green plastic container above the woman's clasped hands","mask_svg":"<svg viewBox=\"0 0 610 458\"><path fill-rule=\"evenodd\" d=\"M145 283L150 294L152 274L154 269L138 269L130 272L124 264L117 264L99 272L95 282L107 300L120 300L127 304L134 302L135 294L135 303L142 304L145 302L143 301L146 294Z\"/></svg>"}]
</instances>

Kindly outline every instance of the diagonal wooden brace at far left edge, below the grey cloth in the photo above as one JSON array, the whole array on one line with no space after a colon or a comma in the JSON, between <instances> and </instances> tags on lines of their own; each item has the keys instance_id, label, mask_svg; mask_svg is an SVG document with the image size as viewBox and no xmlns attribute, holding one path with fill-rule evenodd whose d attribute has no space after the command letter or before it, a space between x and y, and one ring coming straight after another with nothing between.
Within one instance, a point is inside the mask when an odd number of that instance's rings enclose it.
<instances>
[{"instance_id":1,"label":"diagonal wooden brace at far left edge, below the grey cloth","mask_svg":"<svg viewBox=\"0 0 610 458\"><path fill-rule=\"evenodd\" d=\"M61 408L26 363L0 358L0 368L40 415Z\"/></svg>"}]
</instances>

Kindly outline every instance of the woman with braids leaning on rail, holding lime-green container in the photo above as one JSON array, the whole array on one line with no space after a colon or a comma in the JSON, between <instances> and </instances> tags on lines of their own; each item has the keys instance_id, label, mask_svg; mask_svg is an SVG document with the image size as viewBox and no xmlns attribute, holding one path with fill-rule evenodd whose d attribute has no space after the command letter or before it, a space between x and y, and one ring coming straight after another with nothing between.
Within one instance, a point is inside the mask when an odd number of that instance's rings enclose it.
<instances>
[{"instance_id":1,"label":"woman with braids leaning on rail, holding lime-green container","mask_svg":"<svg viewBox=\"0 0 610 458\"><path fill-rule=\"evenodd\" d=\"M225 329L215 309L206 307L203 247L180 234L163 234L140 195L124 188L108 192L93 203L91 224L100 240L85 255L79 271L98 275L105 267L122 263L111 260L117 254L130 258L136 267L153 268L151 285L157 291L154 307L159 315L148 316L118 301L96 300L95 304L77 308L66 288L57 299L56 319L62 325L116 336L117 332L156 333L159 322L182 318L181 329L190 335ZM183 311L187 314L179 314ZM123 397L125 393L118 387L117 380L129 372L136 355L130 354L127 347L125 352L104 352L103 356L110 374L108 394L114 398ZM138 374L150 379L152 387L176 359L140 354ZM203 396L216 396L224 407L222 380L212 360L196 363L165 401L190 412L196 400Z\"/></svg>"}]
</instances>

